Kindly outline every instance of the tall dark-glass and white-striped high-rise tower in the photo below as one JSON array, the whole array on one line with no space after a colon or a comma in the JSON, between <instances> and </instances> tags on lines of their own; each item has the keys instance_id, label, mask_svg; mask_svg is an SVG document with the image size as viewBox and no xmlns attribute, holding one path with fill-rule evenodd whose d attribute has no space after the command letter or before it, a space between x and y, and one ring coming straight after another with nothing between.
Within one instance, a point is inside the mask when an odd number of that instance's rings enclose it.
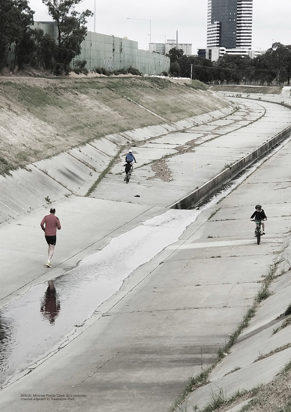
<instances>
[{"instance_id":1,"label":"tall dark-glass and white-striped high-rise tower","mask_svg":"<svg viewBox=\"0 0 291 412\"><path fill-rule=\"evenodd\" d=\"M207 47L251 49L253 0L208 0Z\"/></svg>"}]
</instances>

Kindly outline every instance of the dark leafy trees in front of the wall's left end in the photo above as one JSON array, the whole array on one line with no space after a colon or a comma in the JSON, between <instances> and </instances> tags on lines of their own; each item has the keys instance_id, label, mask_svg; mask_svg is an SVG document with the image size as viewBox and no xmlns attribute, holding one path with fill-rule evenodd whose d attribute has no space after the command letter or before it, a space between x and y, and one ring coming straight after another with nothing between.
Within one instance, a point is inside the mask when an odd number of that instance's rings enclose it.
<instances>
[{"instance_id":1,"label":"dark leafy trees in front of the wall's left end","mask_svg":"<svg viewBox=\"0 0 291 412\"><path fill-rule=\"evenodd\" d=\"M12 71L26 66L68 74L70 63L81 53L90 10L77 12L81 0L42 0L58 28L57 42L42 29L32 28L34 11L27 0L1 0L0 70L7 66L9 53L14 55Z\"/></svg>"}]
</instances>

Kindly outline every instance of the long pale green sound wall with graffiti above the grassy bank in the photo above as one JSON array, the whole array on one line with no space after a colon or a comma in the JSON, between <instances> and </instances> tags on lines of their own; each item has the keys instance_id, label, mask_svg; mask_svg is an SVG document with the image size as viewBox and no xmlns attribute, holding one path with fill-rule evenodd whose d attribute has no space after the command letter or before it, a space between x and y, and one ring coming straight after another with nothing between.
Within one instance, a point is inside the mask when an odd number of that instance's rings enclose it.
<instances>
[{"instance_id":1,"label":"long pale green sound wall with graffiti above the grassy bank","mask_svg":"<svg viewBox=\"0 0 291 412\"><path fill-rule=\"evenodd\" d=\"M41 28L55 39L58 30L54 22L35 21L34 28ZM117 70L133 67L143 74L158 75L169 72L170 59L163 54L138 49L138 43L133 40L121 39L100 33L87 32L81 43L81 54L74 60L86 60L86 68L94 70L104 67L107 70ZM72 65L74 61L72 62Z\"/></svg>"}]
</instances>

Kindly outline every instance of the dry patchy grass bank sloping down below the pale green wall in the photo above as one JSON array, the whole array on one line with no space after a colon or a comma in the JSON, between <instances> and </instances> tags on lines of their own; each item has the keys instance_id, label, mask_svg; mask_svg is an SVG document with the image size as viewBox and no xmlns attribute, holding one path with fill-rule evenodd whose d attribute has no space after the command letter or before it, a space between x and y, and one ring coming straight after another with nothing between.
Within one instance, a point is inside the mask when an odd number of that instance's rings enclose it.
<instances>
[{"instance_id":1,"label":"dry patchy grass bank sloping down below the pale green wall","mask_svg":"<svg viewBox=\"0 0 291 412\"><path fill-rule=\"evenodd\" d=\"M2 174L107 134L229 104L212 91L149 77L2 76L0 90Z\"/></svg>"}]
</instances>

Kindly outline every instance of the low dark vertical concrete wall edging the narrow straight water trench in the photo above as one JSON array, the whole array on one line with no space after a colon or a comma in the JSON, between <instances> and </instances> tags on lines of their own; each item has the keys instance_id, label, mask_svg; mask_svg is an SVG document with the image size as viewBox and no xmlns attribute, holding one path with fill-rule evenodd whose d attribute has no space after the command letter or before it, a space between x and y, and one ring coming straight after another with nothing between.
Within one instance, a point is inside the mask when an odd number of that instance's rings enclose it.
<instances>
[{"instance_id":1,"label":"low dark vertical concrete wall edging the narrow straight water trench","mask_svg":"<svg viewBox=\"0 0 291 412\"><path fill-rule=\"evenodd\" d=\"M193 209L199 204L202 204L207 198L217 192L219 188L229 183L235 177L239 176L244 170L249 168L249 166L257 162L258 160L265 158L265 156L267 156L271 150L279 145L279 143L288 138L290 132L291 126L286 127L286 129L284 129L281 133L278 133L268 142L264 143L253 152L233 163L230 167L224 169L216 176L214 176L214 178L208 180L202 186L198 187L198 189L193 190L193 192L188 194L186 197L179 199L179 201L169 205L168 207L172 209Z\"/></svg>"}]
</instances>

